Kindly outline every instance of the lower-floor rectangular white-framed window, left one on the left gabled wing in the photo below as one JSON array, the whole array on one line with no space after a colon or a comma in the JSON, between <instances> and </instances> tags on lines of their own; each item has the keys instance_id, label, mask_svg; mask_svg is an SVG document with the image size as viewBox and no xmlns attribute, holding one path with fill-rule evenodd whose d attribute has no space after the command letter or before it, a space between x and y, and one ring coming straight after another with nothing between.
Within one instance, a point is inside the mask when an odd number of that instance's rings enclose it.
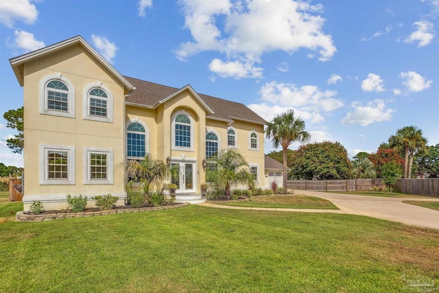
<instances>
[{"instance_id":1,"label":"lower-floor rectangular white-framed window, left one on the left gabled wing","mask_svg":"<svg viewBox=\"0 0 439 293\"><path fill-rule=\"evenodd\" d=\"M75 184L75 147L40 145L40 185Z\"/></svg>"}]
</instances>

